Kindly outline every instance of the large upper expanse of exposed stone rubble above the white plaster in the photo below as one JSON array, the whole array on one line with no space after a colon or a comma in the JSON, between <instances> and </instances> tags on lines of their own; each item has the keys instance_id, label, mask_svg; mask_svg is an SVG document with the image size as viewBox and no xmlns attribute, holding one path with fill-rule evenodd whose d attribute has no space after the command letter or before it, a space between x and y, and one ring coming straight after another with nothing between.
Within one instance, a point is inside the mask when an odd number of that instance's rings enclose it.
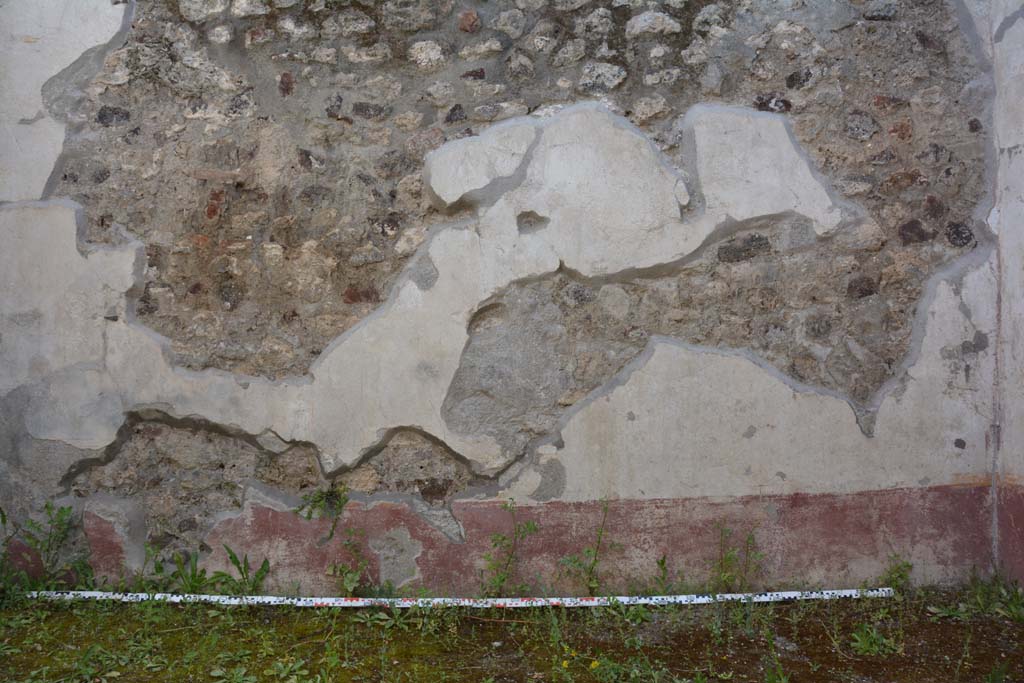
<instances>
[{"instance_id":1,"label":"large upper expanse of exposed stone rubble above the white plaster","mask_svg":"<svg viewBox=\"0 0 1024 683\"><path fill-rule=\"evenodd\" d=\"M886 283L913 298L977 230L985 131L954 17L783 5L142 3L56 194L85 207L89 241L146 245L137 311L175 362L283 378L380 306L442 218L420 180L430 150L602 97L682 167L680 115L718 100L784 114L868 211L879 252L856 268L924 252Z\"/></svg>"}]
</instances>

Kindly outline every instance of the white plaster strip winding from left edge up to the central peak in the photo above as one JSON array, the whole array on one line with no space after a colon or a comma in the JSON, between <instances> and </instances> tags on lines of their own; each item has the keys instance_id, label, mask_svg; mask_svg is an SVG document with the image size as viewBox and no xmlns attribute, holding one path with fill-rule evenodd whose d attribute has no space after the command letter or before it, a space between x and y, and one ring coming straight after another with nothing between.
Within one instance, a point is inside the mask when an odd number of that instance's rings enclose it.
<instances>
[{"instance_id":1,"label":"white plaster strip winding from left edge up to the central peak","mask_svg":"<svg viewBox=\"0 0 1024 683\"><path fill-rule=\"evenodd\" d=\"M716 135L727 129L701 125L705 117L722 113L701 108L687 119L697 150L695 184L706 169L713 173L745 168L730 161L740 150L716 142ZM52 374L41 373L47 379L34 385L29 429L37 438L96 449L113 440L125 412L157 408L251 434L271 429L288 441L310 441L319 447L325 470L332 472L357 463L387 430L413 427L442 439L478 473L495 474L509 465L509 456L488 437L453 432L440 416L467 339L466 327L480 302L511 282L552 272L563 263L586 274L610 275L684 258L713 232L727 228L735 216L792 211L833 221L840 212L838 207L823 209L826 189L807 182L812 176L806 160L793 150L776 117L742 110L726 114L745 116L760 131L760 139L773 140L762 143L776 146L778 158L791 162L792 173L780 174L792 179L785 193L759 190L764 174L754 167L755 174L743 182L720 187L711 207L680 219L681 199L688 198L683 180L639 131L606 111L581 104L549 119L500 125L476 141L462 143L456 153L468 144L487 144L508 126L536 127L539 141L529 156L524 153L521 184L481 205L475 224L437 230L424 247L438 272L436 282L428 289L410 280L400 282L387 304L324 352L311 377L275 383L173 369L162 340L132 324L130 313L111 315L108 300L82 302L74 309L89 323L81 335L85 343L74 343L76 362L55 362L45 349L31 360L54 369ZM504 143L504 137L499 139ZM450 153L443 150L428 158L431 183L440 182L441 167L452 167L444 162ZM771 181L776 187L777 182ZM473 184L460 188L457 181L449 182L457 188L453 196L460 197L476 189ZM775 199L766 204L769 196ZM547 217L547 227L520 233L516 218L525 211ZM121 278L121 291L129 289L137 247L97 249L83 259L76 251L71 208L5 212L4 230L13 239L58 245L40 253L31 265L18 252L6 252L5 271L17 273L8 287L19 288L26 298L11 313L55 308L52 298L59 291L50 287L53 272L90 272L90 259L106 255L114 255L115 262L104 263L102 275ZM585 216L596 218L584 221ZM83 296L96 289L85 288ZM47 321L40 324L39 334L59 337L59 324ZM61 370L66 366L74 367ZM20 376L3 379L5 386L22 382Z\"/></svg>"}]
</instances>

